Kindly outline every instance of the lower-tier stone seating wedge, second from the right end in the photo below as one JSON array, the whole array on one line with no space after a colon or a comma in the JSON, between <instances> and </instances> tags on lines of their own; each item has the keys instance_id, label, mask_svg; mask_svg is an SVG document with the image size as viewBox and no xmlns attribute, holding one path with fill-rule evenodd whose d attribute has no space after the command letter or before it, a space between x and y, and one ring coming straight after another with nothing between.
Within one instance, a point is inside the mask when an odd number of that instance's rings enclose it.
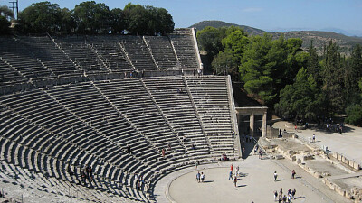
<instances>
[{"instance_id":1,"label":"lower-tier stone seating wedge, second from the right end","mask_svg":"<svg viewBox=\"0 0 362 203\"><path fill-rule=\"evenodd\" d=\"M167 117L167 122L179 135L185 136L188 140L184 143L190 156L195 160L211 158L210 145L205 139L183 78L143 78L142 80ZM195 149L192 147L193 144Z\"/></svg>"}]
</instances>

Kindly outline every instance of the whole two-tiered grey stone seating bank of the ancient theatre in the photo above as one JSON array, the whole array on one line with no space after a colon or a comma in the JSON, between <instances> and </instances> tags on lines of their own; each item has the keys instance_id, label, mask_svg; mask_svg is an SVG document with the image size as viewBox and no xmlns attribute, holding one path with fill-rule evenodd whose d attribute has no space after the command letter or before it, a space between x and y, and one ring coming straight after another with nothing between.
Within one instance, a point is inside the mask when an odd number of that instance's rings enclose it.
<instances>
[{"instance_id":1,"label":"whole two-tiered grey stone seating bank of the ancient theatre","mask_svg":"<svg viewBox=\"0 0 362 203\"><path fill-rule=\"evenodd\" d=\"M199 68L193 29L0 37L0 192L152 202L166 174L238 158L230 78Z\"/></svg>"}]
</instances>

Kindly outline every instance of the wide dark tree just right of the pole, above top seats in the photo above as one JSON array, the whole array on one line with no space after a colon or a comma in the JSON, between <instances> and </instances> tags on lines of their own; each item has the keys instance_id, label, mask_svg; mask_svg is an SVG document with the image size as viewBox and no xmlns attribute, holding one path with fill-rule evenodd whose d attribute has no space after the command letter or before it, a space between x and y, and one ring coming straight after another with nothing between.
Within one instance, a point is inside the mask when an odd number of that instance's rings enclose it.
<instances>
[{"instance_id":1,"label":"wide dark tree just right of the pole, above top seats","mask_svg":"<svg viewBox=\"0 0 362 203\"><path fill-rule=\"evenodd\" d=\"M19 13L23 32L58 32L62 30L62 10L50 2L34 3Z\"/></svg>"}]
</instances>

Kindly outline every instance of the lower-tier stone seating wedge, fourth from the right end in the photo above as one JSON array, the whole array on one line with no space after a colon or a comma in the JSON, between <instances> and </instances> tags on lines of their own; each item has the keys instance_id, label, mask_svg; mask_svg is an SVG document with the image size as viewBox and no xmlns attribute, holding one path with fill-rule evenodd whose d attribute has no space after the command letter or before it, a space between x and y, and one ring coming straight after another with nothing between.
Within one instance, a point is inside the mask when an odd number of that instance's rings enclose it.
<instances>
[{"instance_id":1,"label":"lower-tier stone seating wedge, fourth from the right end","mask_svg":"<svg viewBox=\"0 0 362 203\"><path fill-rule=\"evenodd\" d=\"M107 161L114 162L130 173L143 174L145 178L150 178L152 172L157 170L149 164L154 164L153 159L160 155L90 83L51 88L47 92L72 114L90 125L93 131L111 142L105 145L110 150L105 158ZM102 136L96 138L100 139ZM105 143L97 142L95 146L98 147ZM119 156L125 153L127 145L131 147L131 156ZM130 184L134 185L135 182L131 181Z\"/></svg>"}]
</instances>

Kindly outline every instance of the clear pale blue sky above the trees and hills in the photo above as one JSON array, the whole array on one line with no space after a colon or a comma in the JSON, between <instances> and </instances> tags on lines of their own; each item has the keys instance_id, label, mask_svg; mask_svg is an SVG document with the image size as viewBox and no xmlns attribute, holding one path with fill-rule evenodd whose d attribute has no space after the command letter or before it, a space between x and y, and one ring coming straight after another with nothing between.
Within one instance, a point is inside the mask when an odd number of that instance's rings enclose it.
<instances>
[{"instance_id":1,"label":"clear pale blue sky above the trees and hills","mask_svg":"<svg viewBox=\"0 0 362 203\"><path fill-rule=\"evenodd\" d=\"M10 5L14 0L0 0ZM20 10L35 2L19 0ZM74 8L83 1L51 0L61 7ZM176 27L188 27L205 20L220 20L265 31L328 30L362 36L362 0L99 0L110 9L131 2L166 8Z\"/></svg>"}]
</instances>

